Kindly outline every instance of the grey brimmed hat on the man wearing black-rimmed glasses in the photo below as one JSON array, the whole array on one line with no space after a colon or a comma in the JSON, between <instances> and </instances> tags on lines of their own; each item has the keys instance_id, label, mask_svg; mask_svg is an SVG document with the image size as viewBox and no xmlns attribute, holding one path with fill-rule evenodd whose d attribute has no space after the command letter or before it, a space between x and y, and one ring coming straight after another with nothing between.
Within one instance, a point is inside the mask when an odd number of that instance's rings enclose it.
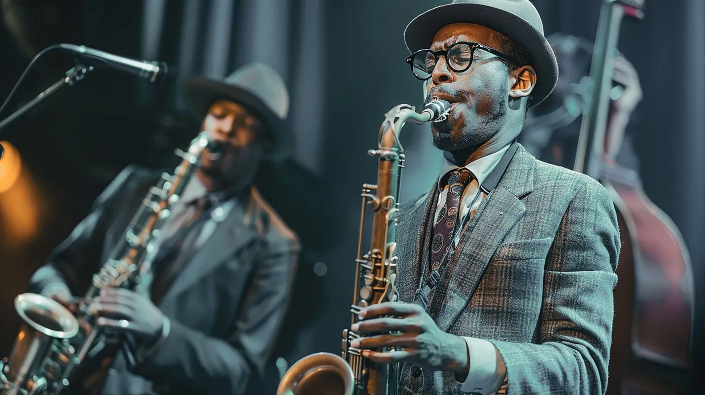
<instances>
[{"instance_id":1,"label":"grey brimmed hat on the man wearing black-rimmed glasses","mask_svg":"<svg viewBox=\"0 0 705 395\"><path fill-rule=\"evenodd\" d=\"M404 31L410 52L428 48L441 27L453 23L474 23L489 27L513 39L529 57L537 82L530 107L541 103L558 82L558 63L544 36L541 15L529 0L453 0L431 8L414 18Z\"/></svg>"}]
</instances>

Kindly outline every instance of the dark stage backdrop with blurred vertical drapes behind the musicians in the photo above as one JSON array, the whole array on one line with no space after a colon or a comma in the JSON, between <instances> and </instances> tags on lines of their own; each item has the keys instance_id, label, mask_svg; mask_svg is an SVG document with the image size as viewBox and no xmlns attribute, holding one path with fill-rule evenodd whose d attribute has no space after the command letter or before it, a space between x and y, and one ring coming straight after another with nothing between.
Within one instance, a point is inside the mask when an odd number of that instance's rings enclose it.
<instances>
[{"instance_id":1,"label":"dark stage backdrop with blurred vertical drapes behind the musicians","mask_svg":"<svg viewBox=\"0 0 705 395\"><path fill-rule=\"evenodd\" d=\"M594 39L598 0L534 0L546 34ZM293 363L314 351L339 352L353 288L360 187L374 182L384 113L422 103L404 62L405 25L442 4L429 0L0 0L0 98L37 51L83 44L121 56L224 77L250 61L272 65L290 89L295 157L266 171L283 175L265 196L306 247L298 291L278 349ZM625 20L620 51L639 72L644 100L629 127L646 195L680 228L694 267L697 305L705 301L705 1L647 1L646 18ZM39 59L4 118L73 66L68 54ZM154 87L96 70L1 131L23 158L17 184L0 194L0 355L19 319L12 301L31 273L68 236L93 199L128 163L171 161L198 132L178 84ZM409 125L402 198L429 187L440 168L428 127ZM274 193L276 192L276 193ZM317 262L326 265L314 275ZM319 268L321 266L319 265ZM705 316L695 318L694 359L702 371Z\"/></svg>"}]
</instances>

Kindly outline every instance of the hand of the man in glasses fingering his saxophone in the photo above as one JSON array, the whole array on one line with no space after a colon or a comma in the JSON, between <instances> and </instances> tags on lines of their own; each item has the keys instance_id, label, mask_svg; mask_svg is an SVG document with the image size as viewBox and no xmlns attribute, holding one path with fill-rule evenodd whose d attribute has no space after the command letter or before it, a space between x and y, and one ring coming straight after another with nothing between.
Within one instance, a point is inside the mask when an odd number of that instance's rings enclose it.
<instances>
[{"instance_id":1,"label":"hand of the man in glasses fingering his saxophone","mask_svg":"<svg viewBox=\"0 0 705 395\"><path fill-rule=\"evenodd\" d=\"M443 332L421 306L402 302L373 304L358 314L362 321L353 324L353 332L364 336L350 342L362 349L362 356L378 363L408 362L424 370L455 372L467 375L470 368L467 346L461 337ZM391 317L390 317L391 316ZM400 331L393 335L388 332ZM376 334L383 332L384 334ZM401 351L371 351L397 347Z\"/></svg>"}]
</instances>

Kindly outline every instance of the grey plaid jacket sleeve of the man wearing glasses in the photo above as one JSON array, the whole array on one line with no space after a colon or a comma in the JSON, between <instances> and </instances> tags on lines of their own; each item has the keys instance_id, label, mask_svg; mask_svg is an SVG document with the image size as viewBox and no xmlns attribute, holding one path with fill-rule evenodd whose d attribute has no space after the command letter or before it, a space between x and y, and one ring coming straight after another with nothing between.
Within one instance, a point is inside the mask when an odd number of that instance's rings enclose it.
<instances>
[{"instance_id":1,"label":"grey plaid jacket sleeve of the man wearing glasses","mask_svg":"<svg viewBox=\"0 0 705 395\"><path fill-rule=\"evenodd\" d=\"M605 394L619 252L613 201L590 179L548 253L540 344L491 340L507 369L507 394Z\"/></svg>"}]
</instances>

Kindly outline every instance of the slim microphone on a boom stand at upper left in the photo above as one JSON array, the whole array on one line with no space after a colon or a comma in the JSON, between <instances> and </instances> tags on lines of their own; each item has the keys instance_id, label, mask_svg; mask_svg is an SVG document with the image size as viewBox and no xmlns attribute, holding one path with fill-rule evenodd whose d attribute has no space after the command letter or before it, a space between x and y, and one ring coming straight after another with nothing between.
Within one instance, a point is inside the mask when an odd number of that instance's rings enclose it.
<instances>
[{"instance_id":1,"label":"slim microphone on a boom stand at upper left","mask_svg":"<svg viewBox=\"0 0 705 395\"><path fill-rule=\"evenodd\" d=\"M62 49L75 52L83 58L92 58L102 61L106 65L122 70L125 73L137 75L145 78L150 83L161 84L166 79L168 73L167 65L164 62L138 61L136 59L125 58L123 56L108 54L104 51L88 48L87 46L74 44L59 44Z\"/></svg>"}]
</instances>

